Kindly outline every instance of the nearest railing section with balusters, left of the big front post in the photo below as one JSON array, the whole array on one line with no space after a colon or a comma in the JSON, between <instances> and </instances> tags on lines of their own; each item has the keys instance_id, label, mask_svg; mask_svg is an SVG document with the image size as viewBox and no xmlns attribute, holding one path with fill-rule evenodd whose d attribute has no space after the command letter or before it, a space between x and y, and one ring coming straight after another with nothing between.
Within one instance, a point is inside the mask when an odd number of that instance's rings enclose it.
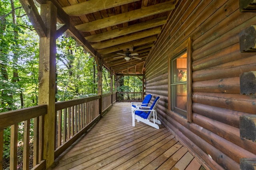
<instances>
[{"instance_id":1,"label":"nearest railing section with balusters, left of the big front post","mask_svg":"<svg viewBox=\"0 0 256 170\"><path fill-rule=\"evenodd\" d=\"M42 160L42 139L43 126L42 116L47 113L47 106L40 105L18 109L14 111L6 111L0 113L0 169L3 168L3 146L4 146L4 129L11 127L10 136L10 169L17 169L18 157L18 125L24 126L23 130L23 169L29 169L29 158L33 157L34 166L40 164L45 167L45 160ZM34 119L34 120L32 120ZM34 128L30 127L30 122L34 121ZM33 155L30 155L30 132L34 133Z\"/></svg>"}]
</instances>

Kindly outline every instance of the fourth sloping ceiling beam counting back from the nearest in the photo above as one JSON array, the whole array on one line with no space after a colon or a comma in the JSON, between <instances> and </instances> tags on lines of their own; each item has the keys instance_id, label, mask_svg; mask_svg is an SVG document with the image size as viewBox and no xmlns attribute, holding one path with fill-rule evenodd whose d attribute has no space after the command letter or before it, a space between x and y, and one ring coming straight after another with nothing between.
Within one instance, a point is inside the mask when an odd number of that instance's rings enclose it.
<instances>
[{"instance_id":1,"label":"fourth sloping ceiling beam counting back from the nearest","mask_svg":"<svg viewBox=\"0 0 256 170\"><path fill-rule=\"evenodd\" d=\"M149 29L149 30L146 30L146 31L137 32L137 33L134 33L134 34L131 34L131 35L127 35L127 36L124 36L124 37L104 41L102 43L96 43L96 44L93 44L92 47L94 49L104 49L104 48L112 47L114 45L127 43L127 42L130 42L130 41L142 39L142 38L145 38L145 37L150 37L151 35L156 35L156 34L161 33L161 30L162 30L161 27L157 27L157 28L154 28L154 29Z\"/></svg>"}]
</instances>

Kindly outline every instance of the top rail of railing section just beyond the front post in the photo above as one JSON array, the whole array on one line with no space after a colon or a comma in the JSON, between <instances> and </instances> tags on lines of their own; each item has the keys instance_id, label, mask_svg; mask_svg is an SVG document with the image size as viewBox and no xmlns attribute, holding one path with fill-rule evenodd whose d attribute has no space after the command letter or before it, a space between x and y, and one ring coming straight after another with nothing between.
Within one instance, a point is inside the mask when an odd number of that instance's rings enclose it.
<instances>
[{"instance_id":1,"label":"top rail of railing section just beyond the front post","mask_svg":"<svg viewBox=\"0 0 256 170\"><path fill-rule=\"evenodd\" d=\"M100 98L101 98L101 96L98 95L98 96L92 96L92 97L88 97L88 98L56 102L55 103L55 111L65 109L67 107L75 106L75 105L78 105L78 104L82 104L82 103L85 103L85 102L90 102L90 101L93 101L93 100L97 100L97 99L100 99Z\"/></svg>"}]
</instances>

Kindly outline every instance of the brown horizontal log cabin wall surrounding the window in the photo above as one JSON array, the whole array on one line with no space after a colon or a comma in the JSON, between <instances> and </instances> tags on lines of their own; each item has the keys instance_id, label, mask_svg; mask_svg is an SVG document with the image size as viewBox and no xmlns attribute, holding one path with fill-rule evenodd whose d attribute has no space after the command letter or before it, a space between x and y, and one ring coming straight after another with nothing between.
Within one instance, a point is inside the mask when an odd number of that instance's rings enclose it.
<instances>
[{"instance_id":1,"label":"brown horizontal log cabin wall surrounding the window","mask_svg":"<svg viewBox=\"0 0 256 170\"><path fill-rule=\"evenodd\" d=\"M256 143L240 138L240 115L256 114L256 96L240 94L239 76L256 70L256 52L240 53L239 33L256 24L238 0L180 0L146 61L146 93L160 96L158 116L212 169L240 169ZM192 39L192 121L171 111L169 55Z\"/></svg>"}]
</instances>

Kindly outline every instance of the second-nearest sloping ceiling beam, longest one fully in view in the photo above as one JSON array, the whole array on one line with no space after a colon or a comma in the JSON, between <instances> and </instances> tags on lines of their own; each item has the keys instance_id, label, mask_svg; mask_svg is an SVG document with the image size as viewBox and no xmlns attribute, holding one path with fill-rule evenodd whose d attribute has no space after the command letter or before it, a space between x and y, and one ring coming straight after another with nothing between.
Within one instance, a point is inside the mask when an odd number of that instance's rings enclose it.
<instances>
[{"instance_id":1,"label":"second-nearest sloping ceiling beam, longest one fully in view","mask_svg":"<svg viewBox=\"0 0 256 170\"><path fill-rule=\"evenodd\" d=\"M108 18L103 18L101 20L96 20L96 21L76 25L76 28L79 31L87 31L87 32L94 31L97 29L106 28L109 26L128 22L131 20L137 20L147 16L152 16L152 15L160 14L162 12L167 12L167 11L173 10L174 8L175 8L175 5L172 4L172 2L167 1L160 4L149 6L146 8L141 8L138 10L129 11L126 13L115 15L115 16L110 16Z\"/></svg>"}]
</instances>

